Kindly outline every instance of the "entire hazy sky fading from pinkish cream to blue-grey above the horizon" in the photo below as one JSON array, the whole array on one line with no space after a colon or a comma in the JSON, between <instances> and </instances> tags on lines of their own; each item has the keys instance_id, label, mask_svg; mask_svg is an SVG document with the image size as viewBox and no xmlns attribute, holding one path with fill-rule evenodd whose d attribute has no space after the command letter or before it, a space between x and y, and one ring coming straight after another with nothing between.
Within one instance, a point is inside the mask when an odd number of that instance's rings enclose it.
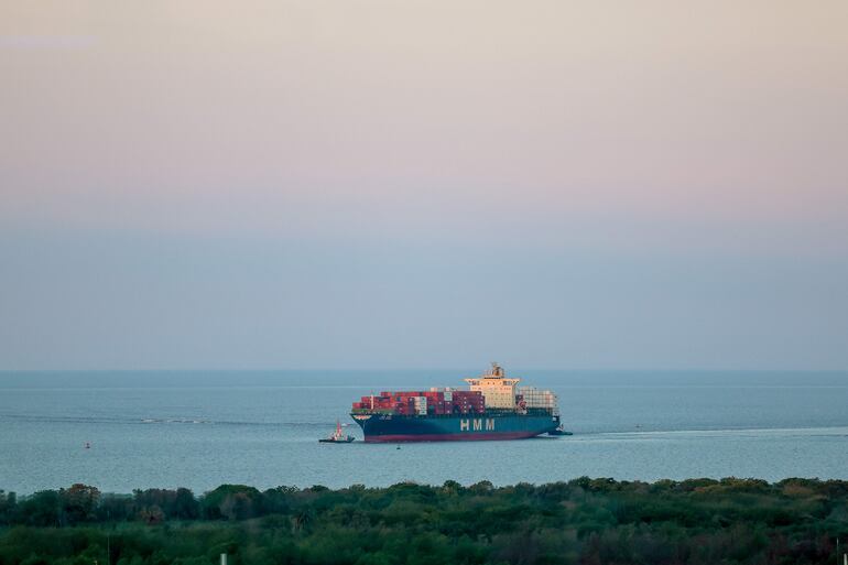
<instances>
[{"instance_id":1,"label":"entire hazy sky fading from pinkish cream to blue-grey above the horizon","mask_svg":"<svg viewBox=\"0 0 848 565\"><path fill-rule=\"evenodd\" d=\"M0 369L848 369L848 3L0 3Z\"/></svg>"}]
</instances>

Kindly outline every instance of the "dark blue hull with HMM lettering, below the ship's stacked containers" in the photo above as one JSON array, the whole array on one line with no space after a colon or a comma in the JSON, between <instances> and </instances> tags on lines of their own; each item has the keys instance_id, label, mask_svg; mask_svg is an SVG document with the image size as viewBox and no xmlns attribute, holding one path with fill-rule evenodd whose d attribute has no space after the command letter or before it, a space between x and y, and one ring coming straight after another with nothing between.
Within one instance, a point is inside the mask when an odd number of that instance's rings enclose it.
<instances>
[{"instance_id":1,"label":"dark blue hull with HMM lettering, below the ship's stacked containers","mask_svg":"<svg viewBox=\"0 0 848 565\"><path fill-rule=\"evenodd\" d=\"M474 414L411 416L351 414L367 443L485 442L524 439L554 432L559 416L551 414Z\"/></svg>"}]
</instances>

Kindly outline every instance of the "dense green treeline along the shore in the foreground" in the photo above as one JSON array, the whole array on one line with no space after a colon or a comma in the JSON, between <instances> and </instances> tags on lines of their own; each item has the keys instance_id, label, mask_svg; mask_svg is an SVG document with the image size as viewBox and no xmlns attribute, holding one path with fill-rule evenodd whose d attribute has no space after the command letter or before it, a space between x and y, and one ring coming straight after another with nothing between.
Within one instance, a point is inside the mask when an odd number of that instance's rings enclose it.
<instances>
[{"instance_id":1,"label":"dense green treeline along the shore in the foreground","mask_svg":"<svg viewBox=\"0 0 848 565\"><path fill-rule=\"evenodd\" d=\"M833 564L846 534L816 479L0 491L0 565Z\"/></svg>"}]
</instances>

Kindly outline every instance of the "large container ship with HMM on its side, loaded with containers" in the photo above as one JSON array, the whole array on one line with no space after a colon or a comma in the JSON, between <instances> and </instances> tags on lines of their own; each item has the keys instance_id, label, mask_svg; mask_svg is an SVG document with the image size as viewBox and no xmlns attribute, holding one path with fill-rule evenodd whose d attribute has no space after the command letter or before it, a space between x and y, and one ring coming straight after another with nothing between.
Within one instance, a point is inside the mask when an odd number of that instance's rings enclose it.
<instances>
[{"instance_id":1,"label":"large container ship with HMM on its side, loaded with containers","mask_svg":"<svg viewBox=\"0 0 848 565\"><path fill-rule=\"evenodd\" d=\"M465 379L467 388L383 391L354 402L350 415L365 441L459 442L562 434L556 394L519 387L498 363Z\"/></svg>"}]
</instances>

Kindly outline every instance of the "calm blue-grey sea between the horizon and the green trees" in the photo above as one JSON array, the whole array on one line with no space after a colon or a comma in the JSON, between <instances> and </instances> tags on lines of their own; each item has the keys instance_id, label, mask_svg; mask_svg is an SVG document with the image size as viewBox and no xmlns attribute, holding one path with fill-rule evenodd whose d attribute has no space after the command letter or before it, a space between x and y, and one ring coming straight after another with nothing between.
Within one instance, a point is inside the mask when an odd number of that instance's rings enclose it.
<instances>
[{"instance_id":1,"label":"calm blue-grey sea between the horizon and the green trees","mask_svg":"<svg viewBox=\"0 0 848 565\"><path fill-rule=\"evenodd\" d=\"M0 373L0 489L848 479L848 372L524 371L523 383L558 393L574 436L401 449L316 441L337 417L361 437L347 411L363 394L474 372Z\"/></svg>"}]
</instances>

